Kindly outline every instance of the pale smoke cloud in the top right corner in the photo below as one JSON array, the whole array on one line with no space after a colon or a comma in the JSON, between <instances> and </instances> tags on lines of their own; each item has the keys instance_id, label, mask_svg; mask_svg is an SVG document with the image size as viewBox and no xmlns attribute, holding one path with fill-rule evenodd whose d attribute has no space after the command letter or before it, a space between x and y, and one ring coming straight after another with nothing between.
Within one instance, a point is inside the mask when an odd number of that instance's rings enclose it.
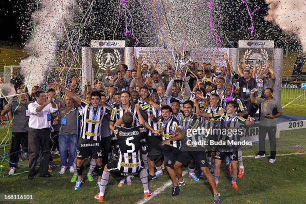
<instances>
[{"instance_id":1,"label":"pale smoke cloud in the top right corner","mask_svg":"<svg viewBox=\"0 0 306 204\"><path fill-rule=\"evenodd\" d=\"M306 52L306 1L265 0L269 10L265 19L279 25L284 31L297 34Z\"/></svg>"}]
</instances>

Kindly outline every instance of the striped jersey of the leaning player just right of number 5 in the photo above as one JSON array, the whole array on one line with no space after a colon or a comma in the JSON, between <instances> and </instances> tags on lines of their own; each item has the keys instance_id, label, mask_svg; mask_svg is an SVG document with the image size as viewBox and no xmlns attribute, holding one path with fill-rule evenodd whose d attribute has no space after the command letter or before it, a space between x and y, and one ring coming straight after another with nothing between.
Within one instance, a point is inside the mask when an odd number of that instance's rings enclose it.
<instances>
[{"instance_id":1,"label":"striped jersey of the leaning player just right of number 5","mask_svg":"<svg viewBox=\"0 0 306 204\"><path fill-rule=\"evenodd\" d=\"M173 134L171 134L170 132L171 131L175 131L175 129L177 127L182 128L179 125L178 120L175 119L172 116L170 116L167 121L164 121L163 118L160 118L159 121L158 121L158 128L164 128L164 130L162 132L162 135L161 135L162 136L162 140L165 140L165 139L173 137ZM180 140L172 140L172 141L169 141L166 144L170 145L170 146L173 146L173 147L176 147L178 149L180 148Z\"/></svg>"}]
</instances>

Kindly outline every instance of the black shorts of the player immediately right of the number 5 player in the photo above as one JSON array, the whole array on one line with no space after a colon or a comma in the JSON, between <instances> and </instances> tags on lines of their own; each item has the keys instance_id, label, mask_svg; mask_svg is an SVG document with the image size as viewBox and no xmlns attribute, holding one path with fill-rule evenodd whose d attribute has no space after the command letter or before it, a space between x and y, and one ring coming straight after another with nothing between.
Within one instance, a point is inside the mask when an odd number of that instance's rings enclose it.
<instances>
[{"instance_id":1,"label":"black shorts of the player immediately right of the number 5 player","mask_svg":"<svg viewBox=\"0 0 306 204\"><path fill-rule=\"evenodd\" d=\"M155 148L149 151L147 157L154 162L157 162L163 157L164 165L174 168L174 162L178 152L179 150L175 147L166 144L161 145L161 143L159 143Z\"/></svg>"}]
</instances>

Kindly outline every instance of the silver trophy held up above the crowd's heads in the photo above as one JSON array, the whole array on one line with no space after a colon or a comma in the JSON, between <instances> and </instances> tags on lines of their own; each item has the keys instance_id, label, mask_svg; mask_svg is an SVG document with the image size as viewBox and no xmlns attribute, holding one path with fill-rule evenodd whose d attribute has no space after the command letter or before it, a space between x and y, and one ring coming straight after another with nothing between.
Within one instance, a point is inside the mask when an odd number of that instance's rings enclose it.
<instances>
[{"instance_id":1,"label":"silver trophy held up above the crowd's heads","mask_svg":"<svg viewBox=\"0 0 306 204\"><path fill-rule=\"evenodd\" d=\"M189 57L188 51L186 51L186 54L184 52L177 52L176 56L174 57L173 52L173 58L175 59L174 64L175 64L175 72L178 73L178 75L174 78L175 82L184 82L184 77L181 76L181 73L185 75L186 73L186 68L189 63L192 62L192 59ZM187 61L185 59L189 58Z\"/></svg>"}]
</instances>

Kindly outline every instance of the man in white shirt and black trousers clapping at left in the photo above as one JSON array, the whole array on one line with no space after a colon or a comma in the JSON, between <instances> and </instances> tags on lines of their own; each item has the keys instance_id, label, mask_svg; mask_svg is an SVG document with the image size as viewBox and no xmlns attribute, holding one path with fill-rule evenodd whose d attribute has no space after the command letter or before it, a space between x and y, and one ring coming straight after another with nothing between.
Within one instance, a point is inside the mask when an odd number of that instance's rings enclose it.
<instances>
[{"instance_id":1,"label":"man in white shirt and black trousers clapping at left","mask_svg":"<svg viewBox=\"0 0 306 204\"><path fill-rule=\"evenodd\" d=\"M35 99L35 102L28 104L28 179L34 179L35 166L40 148L39 176L51 176L51 174L48 173L51 113L57 110L57 105L51 97L48 97L46 100L46 94L43 90L37 90L35 92Z\"/></svg>"}]
</instances>

